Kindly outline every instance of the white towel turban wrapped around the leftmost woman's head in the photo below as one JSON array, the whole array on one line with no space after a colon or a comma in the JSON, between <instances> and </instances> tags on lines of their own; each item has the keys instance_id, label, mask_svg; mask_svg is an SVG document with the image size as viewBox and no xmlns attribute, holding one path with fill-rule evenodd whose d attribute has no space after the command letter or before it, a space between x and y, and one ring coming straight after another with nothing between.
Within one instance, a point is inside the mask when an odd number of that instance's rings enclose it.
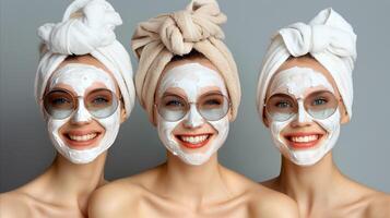
<instances>
[{"instance_id":1,"label":"white towel turban wrapped around the leftmost woman's head","mask_svg":"<svg viewBox=\"0 0 390 218\"><path fill-rule=\"evenodd\" d=\"M107 1L75 0L68 7L62 22L40 26L38 35L44 49L35 80L37 101L43 98L51 74L67 57L91 55L116 78L128 117L134 106L135 92L129 53L114 33L121 23Z\"/></svg>"}]
</instances>

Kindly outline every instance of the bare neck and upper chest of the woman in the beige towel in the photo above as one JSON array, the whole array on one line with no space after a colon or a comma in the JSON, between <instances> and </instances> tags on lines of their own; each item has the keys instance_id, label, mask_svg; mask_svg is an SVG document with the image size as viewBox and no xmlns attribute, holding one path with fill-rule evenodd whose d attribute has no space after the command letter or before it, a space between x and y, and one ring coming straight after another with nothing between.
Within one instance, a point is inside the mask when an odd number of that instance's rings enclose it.
<instances>
[{"instance_id":1,"label":"bare neck and upper chest of the woman in the beige towel","mask_svg":"<svg viewBox=\"0 0 390 218\"><path fill-rule=\"evenodd\" d=\"M175 196L186 204L196 206L231 195L223 171L216 154L201 166L191 166L168 153L168 160L162 177L166 181L167 192L174 192Z\"/></svg>"}]
</instances>

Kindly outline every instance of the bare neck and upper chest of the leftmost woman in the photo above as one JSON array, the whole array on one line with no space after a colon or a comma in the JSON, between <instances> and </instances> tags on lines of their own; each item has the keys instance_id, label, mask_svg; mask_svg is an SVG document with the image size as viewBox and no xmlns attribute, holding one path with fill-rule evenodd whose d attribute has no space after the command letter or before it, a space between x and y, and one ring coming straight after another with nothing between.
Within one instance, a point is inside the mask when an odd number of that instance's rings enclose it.
<instances>
[{"instance_id":1,"label":"bare neck and upper chest of the leftmost woman","mask_svg":"<svg viewBox=\"0 0 390 218\"><path fill-rule=\"evenodd\" d=\"M50 168L39 178L42 190L50 203L79 207L86 213L91 193L105 183L104 165L106 153L94 161L75 165L57 155Z\"/></svg>"}]
</instances>

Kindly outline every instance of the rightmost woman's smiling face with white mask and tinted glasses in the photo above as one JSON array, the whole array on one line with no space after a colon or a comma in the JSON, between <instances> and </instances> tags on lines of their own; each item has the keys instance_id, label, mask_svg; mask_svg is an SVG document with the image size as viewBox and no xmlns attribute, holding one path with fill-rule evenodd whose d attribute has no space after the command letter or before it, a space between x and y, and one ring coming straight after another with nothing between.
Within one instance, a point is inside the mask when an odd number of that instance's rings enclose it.
<instances>
[{"instance_id":1,"label":"rightmost woman's smiling face with white mask and tinted glasses","mask_svg":"<svg viewBox=\"0 0 390 218\"><path fill-rule=\"evenodd\" d=\"M334 80L315 59L287 60L271 80L265 98L265 123L293 162L314 165L334 146L346 113L341 112L345 109ZM308 128L311 118L318 124Z\"/></svg>"}]
</instances>

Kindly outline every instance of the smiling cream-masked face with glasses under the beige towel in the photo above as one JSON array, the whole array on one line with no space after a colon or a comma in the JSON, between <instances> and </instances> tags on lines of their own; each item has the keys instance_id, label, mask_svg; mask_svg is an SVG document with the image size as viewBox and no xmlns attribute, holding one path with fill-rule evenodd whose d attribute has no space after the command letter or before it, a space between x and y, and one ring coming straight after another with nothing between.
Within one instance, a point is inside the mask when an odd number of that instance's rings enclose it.
<instances>
[{"instance_id":1,"label":"smiling cream-masked face with glasses under the beige towel","mask_svg":"<svg viewBox=\"0 0 390 218\"><path fill-rule=\"evenodd\" d=\"M163 72L156 102L159 138L187 164L204 164L225 142L231 119L228 94L208 59L189 56L170 62ZM178 112L180 116L172 119Z\"/></svg>"}]
</instances>

